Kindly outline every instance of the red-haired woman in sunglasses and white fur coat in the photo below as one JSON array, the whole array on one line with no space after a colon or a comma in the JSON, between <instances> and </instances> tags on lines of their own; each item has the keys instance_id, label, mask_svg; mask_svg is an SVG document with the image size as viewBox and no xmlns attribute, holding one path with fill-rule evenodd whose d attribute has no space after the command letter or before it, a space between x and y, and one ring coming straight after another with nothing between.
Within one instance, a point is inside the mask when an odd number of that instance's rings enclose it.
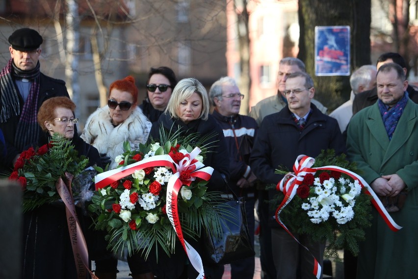
<instances>
[{"instance_id":1,"label":"red-haired woman in sunglasses and white fur coat","mask_svg":"<svg viewBox=\"0 0 418 279\"><path fill-rule=\"evenodd\" d=\"M87 119L81 138L110 157L109 168L117 167L115 158L121 155L124 141L135 149L145 143L151 122L136 105L138 88L132 76L110 84L107 106L93 112ZM104 164L105 165L105 164Z\"/></svg>"}]
</instances>

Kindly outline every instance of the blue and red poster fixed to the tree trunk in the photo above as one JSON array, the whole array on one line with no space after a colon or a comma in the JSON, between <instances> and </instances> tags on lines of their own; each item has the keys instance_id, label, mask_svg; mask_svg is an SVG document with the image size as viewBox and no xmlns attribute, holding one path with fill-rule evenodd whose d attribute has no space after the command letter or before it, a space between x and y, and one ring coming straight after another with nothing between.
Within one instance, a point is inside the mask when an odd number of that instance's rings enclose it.
<instances>
[{"instance_id":1,"label":"blue and red poster fixed to the tree trunk","mask_svg":"<svg viewBox=\"0 0 418 279\"><path fill-rule=\"evenodd\" d=\"M350 27L315 27L315 76L350 75Z\"/></svg>"}]
</instances>

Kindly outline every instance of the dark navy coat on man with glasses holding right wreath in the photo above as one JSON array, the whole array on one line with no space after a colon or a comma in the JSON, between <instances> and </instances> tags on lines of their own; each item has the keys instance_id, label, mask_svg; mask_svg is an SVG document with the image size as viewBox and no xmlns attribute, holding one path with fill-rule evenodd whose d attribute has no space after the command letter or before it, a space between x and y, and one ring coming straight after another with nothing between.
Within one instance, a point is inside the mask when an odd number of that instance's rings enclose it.
<instances>
[{"instance_id":1,"label":"dark navy coat on man with glasses holding right wreath","mask_svg":"<svg viewBox=\"0 0 418 279\"><path fill-rule=\"evenodd\" d=\"M304 154L315 158L321 150L334 149L339 155L345 152L345 142L341 136L336 119L323 114L313 104L305 128L300 131L288 107L266 116L261 122L259 132L250 157L250 166L255 175L265 184L277 185L283 174L275 174L279 166L293 171L297 156ZM269 198L277 194L269 191ZM269 216L273 216L271 211ZM273 221L273 219L271 219ZM278 223L270 222L279 226Z\"/></svg>"}]
</instances>

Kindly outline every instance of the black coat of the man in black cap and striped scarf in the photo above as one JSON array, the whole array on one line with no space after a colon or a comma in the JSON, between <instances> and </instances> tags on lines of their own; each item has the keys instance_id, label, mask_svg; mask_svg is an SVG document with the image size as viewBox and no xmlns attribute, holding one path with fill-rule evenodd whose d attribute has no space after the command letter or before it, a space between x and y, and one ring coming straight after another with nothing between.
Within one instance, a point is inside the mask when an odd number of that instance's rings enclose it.
<instances>
[{"instance_id":1,"label":"black coat of the man in black cap and striped scarf","mask_svg":"<svg viewBox=\"0 0 418 279\"><path fill-rule=\"evenodd\" d=\"M68 97L67 87L65 87L65 82L61 80L56 80L51 77L48 77L44 74L40 74L39 77L39 96L38 96L38 111L41 107L42 103L45 102L47 99L52 97ZM16 86L16 84L15 84ZM1 95L0 91L0 95ZM7 148L7 155L4 162L4 166L8 168L12 168L12 161L13 159L21 153L23 150L18 150L14 146L15 142L15 136L16 136L16 130L19 123L20 115L22 114L23 110L23 98L20 94L19 95L19 101L20 101L20 113L18 116L11 116L7 122L0 123L0 129L3 131L4 139L6 141L6 148ZM1 110L1 104L0 104L0 110ZM39 136L43 133L41 129L39 129Z\"/></svg>"}]
</instances>

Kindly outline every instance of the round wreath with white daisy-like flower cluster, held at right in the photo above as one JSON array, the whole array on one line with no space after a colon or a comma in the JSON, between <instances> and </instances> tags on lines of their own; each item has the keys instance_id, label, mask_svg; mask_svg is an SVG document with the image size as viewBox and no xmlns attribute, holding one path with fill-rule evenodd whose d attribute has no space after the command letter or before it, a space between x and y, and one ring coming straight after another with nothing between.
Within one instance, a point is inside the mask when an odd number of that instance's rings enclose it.
<instances>
[{"instance_id":1,"label":"round wreath with white daisy-like flower cluster, held at right","mask_svg":"<svg viewBox=\"0 0 418 279\"><path fill-rule=\"evenodd\" d=\"M276 220L294 233L311 235L314 242L326 240L325 258L339 260L341 248L357 255L364 227L371 225L371 196L351 175L355 165L344 154L322 150L316 159L299 156L294 170L295 175L285 175L277 186ZM276 173L284 174L279 169Z\"/></svg>"}]
</instances>

